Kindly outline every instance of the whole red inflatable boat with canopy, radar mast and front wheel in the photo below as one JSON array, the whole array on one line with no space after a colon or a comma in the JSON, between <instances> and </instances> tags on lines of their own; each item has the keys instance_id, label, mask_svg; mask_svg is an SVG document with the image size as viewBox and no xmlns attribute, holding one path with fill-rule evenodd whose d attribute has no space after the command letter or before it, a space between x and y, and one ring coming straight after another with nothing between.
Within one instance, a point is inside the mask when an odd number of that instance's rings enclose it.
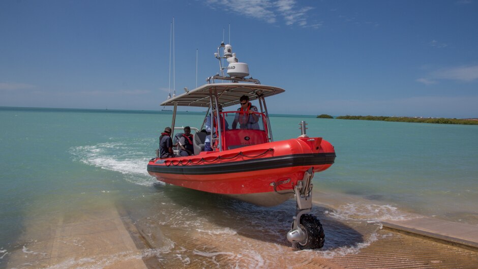
<instances>
[{"instance_id":1,"label":"whole red inflatable boat with canopy, radar mast and front wheel","mask_svg":"<svg viewBox=\"0 0 478 269\"><path fill-rule=\"evenodd\" d=\"M224 48L223 56L219 56L220 48ZM221 66L222 76L210 77L208 84L161 104L173 106L173 130L177 107L196 106L208 108L205 117L211 117L212 129L216 131L194 134L192 156L161 159L157 150L147 171L168 184L261 206L274 206L295 196L297 213L287 238L298 248L321 248L322 225L306 213L312 207L312 177L334 163L334 147L321 137L308 137L305 122L301 123L302 134L298 138L274 141L265 98L283 93L284 89L245 78L249 75L247 65L238 63L230 49L230 45L221 44L216 54L220 65L222 58L229 62L229 76L224 76L226 68ZM215 83L217 80L229 82ZM257 102L260 111L252 112L256 119L253 127L235 128L234 121L247 112L221 108L238 105L244 95ZM203 130L204 122L197 130ZM203 151L207 135L213 148L210 152Z\"/></svg>"}]
</instances>

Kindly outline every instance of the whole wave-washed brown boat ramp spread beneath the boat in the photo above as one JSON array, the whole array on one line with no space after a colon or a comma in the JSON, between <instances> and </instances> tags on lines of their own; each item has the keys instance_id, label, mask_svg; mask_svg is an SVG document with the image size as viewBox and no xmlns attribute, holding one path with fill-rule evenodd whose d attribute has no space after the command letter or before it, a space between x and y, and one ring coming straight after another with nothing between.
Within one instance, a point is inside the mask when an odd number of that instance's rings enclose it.
<instances>
[{"instance_id":1,"label":"whole wave-washed brown boat ramp spread beneath the boat","mask_svg":"<svg viewBox=\"0 0 478 269\"><path fill-rule=\"evenodd\" d=\"M476 269L478 264L476 252L382 230L378 222L361 220L360 212L340 215L331 207L337 200L326 195L313 208L325 229L325 246L298 251L285 239L293 200L263 208L173 186L157 188L165 195L148 208L120 202L35 220L6 268Z\"/></svg>"}]
</instances>

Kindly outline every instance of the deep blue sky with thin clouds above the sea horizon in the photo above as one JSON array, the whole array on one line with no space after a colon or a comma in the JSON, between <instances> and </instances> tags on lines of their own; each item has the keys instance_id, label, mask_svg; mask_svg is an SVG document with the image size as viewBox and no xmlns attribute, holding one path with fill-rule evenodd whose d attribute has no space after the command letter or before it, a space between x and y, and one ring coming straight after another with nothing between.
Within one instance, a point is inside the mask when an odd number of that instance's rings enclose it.
<instances>
[{"instance_id":1,"label":"deep blue sky with thin clouds above the sea horizon","mask_svg":"<svg viewBox=\"0 0 478 269\"><path fill-rule=\"evenodd\" d=\"M229 23L251 76L286 89L271 113L478 117L476 0L3 0L0 106L160 110L196 86L196 49L198 85L219 72Z\"/></svg>"}]
</instances>

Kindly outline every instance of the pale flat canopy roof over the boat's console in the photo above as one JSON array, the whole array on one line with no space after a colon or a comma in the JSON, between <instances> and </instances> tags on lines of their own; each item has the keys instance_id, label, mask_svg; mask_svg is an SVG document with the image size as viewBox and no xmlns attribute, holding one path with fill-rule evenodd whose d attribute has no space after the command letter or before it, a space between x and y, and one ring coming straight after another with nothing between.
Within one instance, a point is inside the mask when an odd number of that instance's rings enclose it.
<instances>
[{"instance_id":1,"label":"pale flat canopy roof over the boat's console","mask_svg":"<svg viewBox=\"0 0 478 269\"><path fill-rule=\"evenodd\" d=\"M252 83L212 83L204 84L200 87L192 89L188 93L176 96L161 103L161 106L210 106L210 91L218 96L219 104L223 107L236 105L239 103L241 96L246 95L249 100L255 100L258 96L268 97L285 92L284 89Z\"/></svg>"}]
</instances>

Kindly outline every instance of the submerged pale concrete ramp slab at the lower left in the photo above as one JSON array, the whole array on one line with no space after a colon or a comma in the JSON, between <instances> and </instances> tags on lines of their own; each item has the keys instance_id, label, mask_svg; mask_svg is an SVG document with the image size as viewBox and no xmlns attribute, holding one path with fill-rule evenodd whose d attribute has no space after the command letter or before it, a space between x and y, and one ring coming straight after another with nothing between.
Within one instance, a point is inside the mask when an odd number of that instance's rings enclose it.
<instances>
[{"instance_id":1,"label":"submerged pale concrete ramp slab at the lower left","mask_svg":"<svg viewBox=\"0 0 478 269\"><path fill-rule=\"evenodd\" d=\"M132 231L115 209L75 213L74 217L62 214L53 220L40 230L31 225L26 233L34 234L35 240L25 238L11 253L6 268L148 268Z\"/></svg>"}]
</instances>

